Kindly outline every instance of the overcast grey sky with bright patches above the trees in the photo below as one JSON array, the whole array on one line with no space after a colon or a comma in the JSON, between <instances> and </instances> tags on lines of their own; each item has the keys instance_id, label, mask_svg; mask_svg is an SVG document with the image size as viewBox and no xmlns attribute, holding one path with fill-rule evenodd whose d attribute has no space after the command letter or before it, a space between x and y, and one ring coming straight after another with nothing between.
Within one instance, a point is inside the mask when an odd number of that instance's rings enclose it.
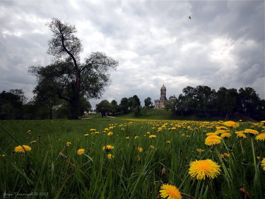
<instances>
[{"instance_id":1,"label":"overcast grey sky with bright patches above the trees","mask_svg":"<svg viewBox=\"0 0 265 199\"><path fill-rule=\"evenodd\" d=\"M265 98L265 1L0 1L0 92L32 98L31 65L46 66L52 17L75 24L81 57L104 51L119 61L103 99L160 97L186 86L239 89ZM191 20L188 16L191 15Z\"/></svg>"}]
</instances>

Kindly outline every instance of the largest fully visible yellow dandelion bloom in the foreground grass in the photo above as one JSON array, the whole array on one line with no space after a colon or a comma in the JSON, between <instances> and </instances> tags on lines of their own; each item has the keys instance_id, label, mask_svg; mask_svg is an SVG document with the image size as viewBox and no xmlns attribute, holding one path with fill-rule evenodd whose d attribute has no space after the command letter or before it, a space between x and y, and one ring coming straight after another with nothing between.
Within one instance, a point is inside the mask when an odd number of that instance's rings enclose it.
<instances>
[{"instance_id":1,"label":"largest fully visible yellow dandelion bloom in the foreground grass","mask_svg":"<svg viewBox=\"0 0 265 199\"><path fill-rule=\"evenodd\" d=\"M220 166L216 162L213 162L211 159L193 161L190 163L189 174L191 177L197 176L197 179L204 179L205 176L210 178L215 178L217 175L220 175Z\"/></svg>"}]
</instances>

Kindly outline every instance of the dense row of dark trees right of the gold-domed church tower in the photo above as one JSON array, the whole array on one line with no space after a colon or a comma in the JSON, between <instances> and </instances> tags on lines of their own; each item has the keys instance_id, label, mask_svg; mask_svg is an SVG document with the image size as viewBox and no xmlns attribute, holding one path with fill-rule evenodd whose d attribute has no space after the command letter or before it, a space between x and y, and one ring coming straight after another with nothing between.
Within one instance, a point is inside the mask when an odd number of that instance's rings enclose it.
<instances>
[{"instance_id":1,"label":"dense row of dark trees right of the gold-domed church tower","mask_svg":"<svg viewBox=\"0 0 265 199\"><path fill-rule=\"evenodd\" d=\"M235 114L242 114L256 120L265 118L265 100L251 87L235 88L220 87L218 91L209 86L187 86L178 98L170 96L164 103L165 110L173 115L194 113L198 117L217 116L229 119Z\"/></svg>"}]
</instances>

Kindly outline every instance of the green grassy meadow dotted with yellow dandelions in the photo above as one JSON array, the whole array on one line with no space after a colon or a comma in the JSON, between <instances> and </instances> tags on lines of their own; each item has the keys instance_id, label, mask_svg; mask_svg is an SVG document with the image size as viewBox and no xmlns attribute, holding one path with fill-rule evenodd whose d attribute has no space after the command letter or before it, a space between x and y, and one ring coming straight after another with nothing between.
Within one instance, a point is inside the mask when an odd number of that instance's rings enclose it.
<instances>
[{"instance_id":1,"label":"green grassy meadow dotted with yellow dandelions","mask_svg":"<svg viewBox=\"0 0 265 199\"><path fill-rule=\"evenodd\" d=\"M265 198L264 123L0 122L3 198Z\"/></svg>"}]
</instances>

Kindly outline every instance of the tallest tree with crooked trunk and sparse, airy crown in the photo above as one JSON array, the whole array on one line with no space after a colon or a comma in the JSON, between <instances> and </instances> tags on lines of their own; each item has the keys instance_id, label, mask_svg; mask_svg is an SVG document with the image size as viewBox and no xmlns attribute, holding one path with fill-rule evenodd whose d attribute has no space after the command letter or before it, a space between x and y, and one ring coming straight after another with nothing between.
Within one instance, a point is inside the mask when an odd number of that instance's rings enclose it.
<instances>
[{"instance_id":1,"label":"tallest tree with crooked trunk and sparse, airy crown","mask_svg":"<svg viewBox=\"0 0 265 199\"><path fill-rule=\"evenodd\" d=\"M47 54L53 56L53 62L46 67L31 66L29 72L36 75L37 83L54 81L56 94L70 105L70 119L78 119L80 96L99 99L111 83L108 71L116 70L118 61L103 52L95 52L81 62L83 47L75 36L75 25L52 18L46 26L52 34Z\"/></svg>"}]
</instances>

